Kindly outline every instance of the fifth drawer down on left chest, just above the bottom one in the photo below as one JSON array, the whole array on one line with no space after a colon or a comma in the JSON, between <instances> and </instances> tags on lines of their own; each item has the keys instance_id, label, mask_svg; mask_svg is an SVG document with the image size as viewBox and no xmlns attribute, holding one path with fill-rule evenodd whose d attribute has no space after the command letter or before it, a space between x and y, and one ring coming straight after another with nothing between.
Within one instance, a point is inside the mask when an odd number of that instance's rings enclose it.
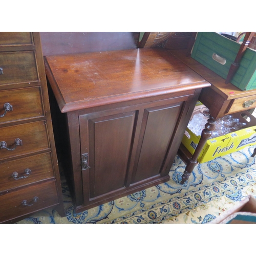
<instances>
[{"instance_id":1,"label":"fifth drawer down on left chest, just above the bottom one","mask_svg":"<svg viewBox=\"0 0 256 256\"><path fill-rule=\"evenodd\" d=\"M0 169L0 191L51 177L54 173L50 152L4 162Z\"/></svg>"}]
</instances>

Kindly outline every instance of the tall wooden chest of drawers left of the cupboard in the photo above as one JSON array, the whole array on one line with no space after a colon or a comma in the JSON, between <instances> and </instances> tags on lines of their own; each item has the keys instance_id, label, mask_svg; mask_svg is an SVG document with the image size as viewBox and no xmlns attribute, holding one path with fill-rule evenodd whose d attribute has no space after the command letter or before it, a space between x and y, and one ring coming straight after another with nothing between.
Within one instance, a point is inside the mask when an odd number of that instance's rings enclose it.
<instances>
[{"instance_id":1,"label":"tall wooden chest of drawers left of the cupboard","mask_svg":"<svg viewBox=\"0 0 256 256\"><path fill-rule=\"evenodd\" d=\"M0 223L63 209L39 33L0 32Z\"/></svg>"}]
</instances>

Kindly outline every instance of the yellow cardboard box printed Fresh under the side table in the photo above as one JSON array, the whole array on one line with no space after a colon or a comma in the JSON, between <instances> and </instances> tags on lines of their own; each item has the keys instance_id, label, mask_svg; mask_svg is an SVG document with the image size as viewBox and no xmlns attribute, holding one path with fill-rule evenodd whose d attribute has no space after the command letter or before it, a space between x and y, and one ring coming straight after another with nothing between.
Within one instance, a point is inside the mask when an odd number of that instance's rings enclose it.
<instances>
[{"instance_id":1,"label":"yellow cardboard box printed Fresh under the side table","mask_svg":"<svg viewBox=\"0 0 256 256\"><path fill-rule=\"evenodd\" d=\"M256 118L248 111L239 112L232 116L239 118L240 122L246 123L245 128L237 132L207 140L197 159L199 163L204 163L216 157L242 150L242 148L246 146L256 144ZM247 121L245 119L246 117L249 117L250 121ZM191 154L194 154L200 138L201 136L196 136L187 128L182 138L182 144Z\"/></svg>"}]
</instances>

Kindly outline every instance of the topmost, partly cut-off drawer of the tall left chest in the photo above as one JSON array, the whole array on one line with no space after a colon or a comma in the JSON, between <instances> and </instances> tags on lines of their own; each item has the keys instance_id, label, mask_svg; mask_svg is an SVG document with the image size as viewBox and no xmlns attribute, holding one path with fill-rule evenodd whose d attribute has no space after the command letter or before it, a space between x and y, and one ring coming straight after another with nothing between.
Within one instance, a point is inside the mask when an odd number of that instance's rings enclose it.
<instances>
[{"instance_id":1,"label":"topmost, partly cut-off drawer of the tall left chest","mask_svg":"<svg viewBox=\"0 0 256 256\"><path fill-rule=\"evenodd\" d=\"M31 32L0 32L0 46L33 45Z\"/></svg>"}]
</instances>

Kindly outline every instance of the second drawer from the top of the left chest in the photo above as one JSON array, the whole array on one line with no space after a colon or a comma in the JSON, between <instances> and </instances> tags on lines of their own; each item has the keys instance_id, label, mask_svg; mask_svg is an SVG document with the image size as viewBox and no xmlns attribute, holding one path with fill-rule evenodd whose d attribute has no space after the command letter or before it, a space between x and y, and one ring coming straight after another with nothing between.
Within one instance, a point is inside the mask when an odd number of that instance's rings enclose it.
<instances>
[{"instance_id":1,"label":"second drawer from the top of the left chest","mask_svg":"<svg viewBox=\"0 0 256 256\"><path fill-rule=\"evenodd\" d=\"M34 51L0 53L0 85L38 81Z\"/></svg>"}]
</instances>

